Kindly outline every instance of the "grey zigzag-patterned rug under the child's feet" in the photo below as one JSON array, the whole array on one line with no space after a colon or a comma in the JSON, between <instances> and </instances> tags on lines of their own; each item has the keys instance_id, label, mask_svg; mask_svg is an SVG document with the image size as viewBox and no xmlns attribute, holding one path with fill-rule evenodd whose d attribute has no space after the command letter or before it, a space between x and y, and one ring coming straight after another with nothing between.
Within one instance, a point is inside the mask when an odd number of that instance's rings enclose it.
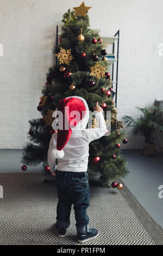
<instances>
[{"instance_id":1,"label":"grey zigzag-patterned rug under the child's feet","mask_svg":"<svg viewBox=\"0 0 163 256\"><path fill-rule=\"evenodd\" d=\"M44 174L1 173L0 245L78 245L72 208L64 239L55 233L57 189ZM118 189L91 187L88 214L97 239L85 245L155 245L149 230Z\"/></svg>"}]
</instances>

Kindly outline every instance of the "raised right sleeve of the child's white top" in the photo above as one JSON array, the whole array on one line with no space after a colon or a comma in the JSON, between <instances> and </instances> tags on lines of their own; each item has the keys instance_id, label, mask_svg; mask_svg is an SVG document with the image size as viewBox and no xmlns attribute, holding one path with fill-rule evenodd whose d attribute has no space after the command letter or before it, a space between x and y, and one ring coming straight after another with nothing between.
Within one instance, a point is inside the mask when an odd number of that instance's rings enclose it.
<instances>
[{"instance_id":1,"label":"raised right sleeve of the child's white top","mask_svg":"<svg viewBox=\"0 0 163 256\"><path fill-rule=\"evenodd\" d=\"M83 130L84 136L89 142L101 138L106 133L106 123L102 112L96 112L95 116L97 118L98 128Z\"/></svg>"}]
</instances>

